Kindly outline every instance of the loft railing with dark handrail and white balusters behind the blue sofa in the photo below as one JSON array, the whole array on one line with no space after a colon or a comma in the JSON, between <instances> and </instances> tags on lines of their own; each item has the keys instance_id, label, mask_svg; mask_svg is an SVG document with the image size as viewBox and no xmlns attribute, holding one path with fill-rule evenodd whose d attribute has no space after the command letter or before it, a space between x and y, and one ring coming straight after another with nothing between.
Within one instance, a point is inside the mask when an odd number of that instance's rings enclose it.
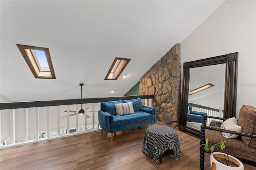
<instances>
[{"instance_id":1,"label":"loft railing with dark handrail and white balusters behind the blue sofa","mask_svg":"<svg viewBox=\"0 0 256 170\"><path fill-rule=\"evenodd\" d=\"M0 103L0 149L99 130L101 102L141 98L144 105L151 107L153 97L141 95ZM81 107L84 113L79 114Z\"/></svg>"}]
</instances>

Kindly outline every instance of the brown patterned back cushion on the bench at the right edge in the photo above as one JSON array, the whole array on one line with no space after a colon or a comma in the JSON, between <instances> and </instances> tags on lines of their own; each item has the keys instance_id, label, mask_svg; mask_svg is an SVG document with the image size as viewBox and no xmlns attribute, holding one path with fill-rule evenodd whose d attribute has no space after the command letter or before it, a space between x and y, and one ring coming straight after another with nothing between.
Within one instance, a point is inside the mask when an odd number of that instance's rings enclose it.
<instances>
[{"instance_id":1,"label":"brown patterned back cushion on the bench at the right edge","mask_svg":"<svg viewBox=\"0 0 256 170\"><path fill-rule=\"evenodd\" d=\"M243 133L256 134L256 109L243 105L239 112L238 125ZM241 136L242 141L249 147L256 149L256 138Z\"/></svg>"}]
</instances>

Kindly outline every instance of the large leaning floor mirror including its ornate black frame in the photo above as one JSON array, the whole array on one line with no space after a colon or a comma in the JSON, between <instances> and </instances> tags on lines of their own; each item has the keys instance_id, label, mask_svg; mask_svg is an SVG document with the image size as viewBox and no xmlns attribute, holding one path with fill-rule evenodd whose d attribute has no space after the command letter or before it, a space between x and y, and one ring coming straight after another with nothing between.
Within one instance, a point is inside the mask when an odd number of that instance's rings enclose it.
<instances>
[{"instance_id":1,"label":"large leaning floor mirror including its ornate black frame","mask_svg":"<svg viewBox=\"0 0 256 170\"><path fill-rule=\"evenodd\" d=\"M201 118L194 116L195 112L198 115L236 117L237 61L238 53L230 53L184 63L181 131L200 136ZM204 85L206 89L202 90ZM207 124L210 121L208 119Z\"/></svg>"}]
</instances>

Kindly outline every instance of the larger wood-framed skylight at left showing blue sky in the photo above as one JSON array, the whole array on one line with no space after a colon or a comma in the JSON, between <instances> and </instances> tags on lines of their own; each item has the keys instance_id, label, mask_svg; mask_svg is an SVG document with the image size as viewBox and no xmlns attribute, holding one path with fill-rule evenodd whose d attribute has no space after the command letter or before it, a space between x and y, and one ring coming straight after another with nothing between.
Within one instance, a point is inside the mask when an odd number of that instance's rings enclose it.
<instances>
[{"instance_id":1,"label":"larger wood-framed skylight at left showing blue sky","mask_svg":"<svg viewBox=\"0 0 256 170\"><path fill-rule=\"evenodd\" d=\"M56 79L48 48L17 44L35 78Z\"/></svg>"}]
</instances>

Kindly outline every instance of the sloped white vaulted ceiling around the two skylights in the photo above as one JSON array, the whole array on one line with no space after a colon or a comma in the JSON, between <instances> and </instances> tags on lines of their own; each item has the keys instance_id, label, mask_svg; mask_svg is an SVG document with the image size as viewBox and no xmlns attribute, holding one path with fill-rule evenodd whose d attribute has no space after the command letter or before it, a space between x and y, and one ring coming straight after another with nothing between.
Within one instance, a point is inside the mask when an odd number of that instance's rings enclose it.
<instances>
[{"instance_id":1,"label":"sloped white vaulted ceiling around the two skylights","mask_svg":"<svg viewBox=\"0 0 256 170\"><path fill-rule=\"evenodd\" d=\"M122 96L224 1L0 1L0 93L10 101ZM35 79L16 44L50 50L56 79ZM131 58L104 80L115 57ZM110 93L114 90L115 93Z\"/></svg>"}]
</instances>

